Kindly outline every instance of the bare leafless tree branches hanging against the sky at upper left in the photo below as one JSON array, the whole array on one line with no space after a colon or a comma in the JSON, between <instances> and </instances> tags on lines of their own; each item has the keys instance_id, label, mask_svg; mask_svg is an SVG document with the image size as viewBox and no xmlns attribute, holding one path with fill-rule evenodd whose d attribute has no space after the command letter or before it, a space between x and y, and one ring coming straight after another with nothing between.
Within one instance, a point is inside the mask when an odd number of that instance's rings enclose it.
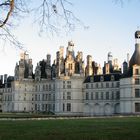
<instances>
[{"instance_id":1,"label":"bare leafless tree branches hanging against the sky at upper left","mask_svg":"<svg viewBox=\"0 0 140 140\"><path fill-rule=\"evenodd\" d=\"M37 4L36 4L37 3ZM9 42L18 48L22 44L12 33L15 21L26 17L27 13L34 16L34 23L39 25L40 33L46 31L59 34L62 29L71 31L75 25L83 23L73 14L69 0L2 0L0 3L0 41ZM83 25L84 26L84 25Z\"/></svg>"}]
</instances>

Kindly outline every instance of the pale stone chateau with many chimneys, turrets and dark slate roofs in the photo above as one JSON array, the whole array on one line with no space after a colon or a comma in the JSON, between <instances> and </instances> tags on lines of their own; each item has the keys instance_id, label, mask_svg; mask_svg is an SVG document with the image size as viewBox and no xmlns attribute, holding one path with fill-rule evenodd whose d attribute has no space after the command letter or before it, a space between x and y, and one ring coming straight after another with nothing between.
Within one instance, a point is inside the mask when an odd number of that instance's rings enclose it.
<instances>
[{"instance_id":1,"label":"pale stone chateau with many chimneys, turrets and dark slate roofs","mask_svg":"<svg viewBox=\"0 0 140 140\"><path fill-rule=\"evenodd\" d=\"M140 31L135 32L135 50L120 69L111 52L101 68L83 53L75 55L68 42L40 61L33 72L32 59L21 54L14 77L0 77L0 111L53 113L56 115L115 115L140 113Z\"/></svg>"}]
</instances>

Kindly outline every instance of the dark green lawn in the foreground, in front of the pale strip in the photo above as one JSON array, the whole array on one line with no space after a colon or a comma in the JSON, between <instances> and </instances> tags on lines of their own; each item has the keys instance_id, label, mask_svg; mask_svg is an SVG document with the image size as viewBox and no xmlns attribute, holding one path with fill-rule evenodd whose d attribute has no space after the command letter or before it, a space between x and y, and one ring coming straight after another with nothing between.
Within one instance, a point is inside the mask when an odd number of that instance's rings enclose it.
<instances>
[{"instance_id":1,"label":"dark green lawn in the foreground, in front of the pale strip","mask_svg":"<svg viewBox=\"0 0 140 140\"><path fill-rule=\"evenodd\" d=\"M0 121L0 140L140 140L140 118Z\"/></svg>"}]
</instances>

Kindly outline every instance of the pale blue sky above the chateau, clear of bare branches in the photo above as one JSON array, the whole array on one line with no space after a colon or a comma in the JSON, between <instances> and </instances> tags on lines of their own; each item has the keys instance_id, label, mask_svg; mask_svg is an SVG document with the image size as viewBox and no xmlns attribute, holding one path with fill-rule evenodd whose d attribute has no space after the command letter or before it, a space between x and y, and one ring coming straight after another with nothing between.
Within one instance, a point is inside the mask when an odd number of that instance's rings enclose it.
<instances>
[{"instance_id":1,"label":"pale blue sky above the chateau, clear of bare branches","mask_svg":"<svg viewBox=\"0 0 140 140\"><path fill-rule=\"evenodd\" d=\"M107 53L112 52L113 58L118 58L120 65L131 55L135 48L134 33L140 26L140 1L125 0L123 5L114 0L71 0L74 14L89 28L82 26L59 36L38 35L36 26L30 18L24 18L21 24L14 29L15 35L24 43L35 69L37 62L46 59L51 54L52 63L56 51L60 46L67 47L68 41L75 44L75 52L82 51L84 61L86 56L103 66L107 61ZM0 75L14 75L16 62L20 59L23 50L10 45L0 48Z\"/></svg>"}]
</instances>

